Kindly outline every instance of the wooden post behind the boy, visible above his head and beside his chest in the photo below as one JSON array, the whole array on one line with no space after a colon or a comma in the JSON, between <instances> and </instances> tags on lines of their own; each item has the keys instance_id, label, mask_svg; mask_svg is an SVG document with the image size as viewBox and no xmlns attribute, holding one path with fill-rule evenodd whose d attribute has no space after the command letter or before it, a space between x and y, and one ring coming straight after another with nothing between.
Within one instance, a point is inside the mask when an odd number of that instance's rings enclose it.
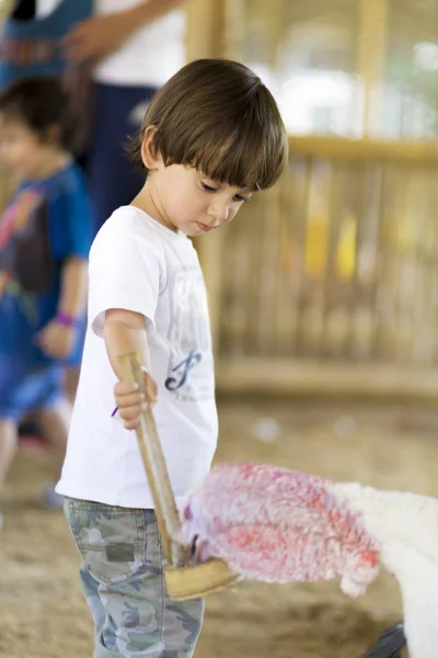
<instances>
[{"instance_id":1,"label":"wooden post behind the boy, visible above his head and beside his chest","mask_svg":"<svg viewBox=\"0 0 438 658\"><path fill-rule=\"evenodd\" d=\"M187 61L204 57L226 56L226 1L187 0ZM212 235L197 239L195 243L206 280L214 345L217 344L219 334L222 241L221 231L215 231Z\"/></svg>"}]
</instances>

